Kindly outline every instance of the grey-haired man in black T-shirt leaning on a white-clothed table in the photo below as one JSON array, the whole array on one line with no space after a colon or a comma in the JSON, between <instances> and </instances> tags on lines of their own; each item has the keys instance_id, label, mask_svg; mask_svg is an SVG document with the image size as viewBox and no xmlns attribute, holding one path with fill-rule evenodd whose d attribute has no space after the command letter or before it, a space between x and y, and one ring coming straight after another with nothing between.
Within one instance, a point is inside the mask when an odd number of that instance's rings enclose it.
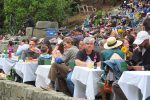
<instances>
[{"instance_id":1,"label":"grey-haired man in black T-shirt leaning on a white-clothed table","mask_svg":"<svg viewBox=\"0 0 150 100\"><path fill-rule=\"evenodd\" d=\"M93 64L96 63L97 66L100 66L100 55L98 52L94 51L95 39L86 37L84 38L83 42L85 44L84 49L77 53L75 64L77 66L87 67L88 65L86 63L86 60L90 57Z\"/></svg>"}]
</instances>

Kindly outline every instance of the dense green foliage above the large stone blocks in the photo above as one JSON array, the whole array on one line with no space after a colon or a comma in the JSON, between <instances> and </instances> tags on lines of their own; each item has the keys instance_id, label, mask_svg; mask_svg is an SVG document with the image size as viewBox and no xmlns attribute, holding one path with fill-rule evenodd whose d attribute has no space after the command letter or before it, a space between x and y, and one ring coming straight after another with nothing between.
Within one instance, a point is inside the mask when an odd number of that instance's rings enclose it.
<instances>
[{"instance_id":1,"label":"dense green foliage above the large stone blocks","mask_svg":"<svg viewBox=\"0 0 150 100\"><path fill-rule=\"evenodd\" d=\"M58 21L61 23L71 13L73 0L4 0L7 29L18 30L31 15L34 22Z\"/></svg>"}]
</instances>

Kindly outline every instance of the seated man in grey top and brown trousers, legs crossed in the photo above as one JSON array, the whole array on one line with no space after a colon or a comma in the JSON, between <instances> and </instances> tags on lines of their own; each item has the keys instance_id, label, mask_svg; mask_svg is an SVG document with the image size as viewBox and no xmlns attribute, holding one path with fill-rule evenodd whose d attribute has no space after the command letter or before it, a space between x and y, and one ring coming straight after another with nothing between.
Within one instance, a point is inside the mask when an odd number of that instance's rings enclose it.
<instances>
[{"instance_id":1,"label":"seated man in grey top and brown trousers, legs crossed","mask_svg":"<svg viewBox=\"0 0 150 100\"><path fill-rule=\"evenodd\" d=\"M58 81L60 79L68 81L67 77L68 77L68 75L70 76L70 74L72 73L72 70L73 70L69 67L69 63L71 61L74 61L76 54L79 51L78 48L73 45L73 39L71 37L65 37L63 39L63 43L64 43L65 51L61 57L60 56L55 57L55 62L52 64L51 69L49 71L48 77L51 80L49 87L51 89L55 88L56 78L58 79ZM69 80L71 80L70 78L69 78ZM64 85L64 87L65 87L65 85ZM71 95L73 95L74 90L72 88L69 88L69 90L71 92ZM64 92L65 94L68 94L66 92L67 91L66 88L64 90L62 90L60 88L60 91Z\"/></svg>"}]
</instances>

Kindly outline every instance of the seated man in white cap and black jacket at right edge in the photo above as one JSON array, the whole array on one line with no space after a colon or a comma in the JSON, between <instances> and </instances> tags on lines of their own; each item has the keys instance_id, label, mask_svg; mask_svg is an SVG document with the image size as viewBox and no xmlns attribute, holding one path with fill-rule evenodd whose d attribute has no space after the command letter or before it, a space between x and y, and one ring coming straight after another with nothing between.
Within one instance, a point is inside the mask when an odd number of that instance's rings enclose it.
<instances>
[{"instance_id":1,"label":"seated man in white cap and black jacket at right edge","mask_svg":"<svg viewBox=\"0 0 150 100\"><path fill-rule=\"evenodd\" d=\"M133 69L135 70L150 70L150 43L149 43L150 35L146 31L140 31L137 34L137 37L134 41L134 44L138 45L137 48L133 52L132 56L132 64ZM134 67L136 66L136 67ZM115 100L127 100L126 96L124 95L123 91L121 90L120 86L118 85L118 81L115 81L112 84L113 92L115 95Z\"/></svg>"}]
</instances>

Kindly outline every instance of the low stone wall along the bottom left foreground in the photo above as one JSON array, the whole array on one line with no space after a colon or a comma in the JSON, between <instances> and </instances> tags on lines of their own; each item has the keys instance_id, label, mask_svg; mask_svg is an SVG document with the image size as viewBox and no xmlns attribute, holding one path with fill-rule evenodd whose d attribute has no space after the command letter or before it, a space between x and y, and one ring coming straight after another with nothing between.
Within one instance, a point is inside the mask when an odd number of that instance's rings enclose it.
<instances>
[{"instance_id":1,"label":"low stone wall along the bottom left foreground","mask_svg":"<svg viewBox=\"0 0 150 100\"><path fill-rule=\"evenodd\" d=\"M0 80L0 100L85 100L68 97L61 92L43 91L13 81Z\"/></svg>"}]
</instances>

